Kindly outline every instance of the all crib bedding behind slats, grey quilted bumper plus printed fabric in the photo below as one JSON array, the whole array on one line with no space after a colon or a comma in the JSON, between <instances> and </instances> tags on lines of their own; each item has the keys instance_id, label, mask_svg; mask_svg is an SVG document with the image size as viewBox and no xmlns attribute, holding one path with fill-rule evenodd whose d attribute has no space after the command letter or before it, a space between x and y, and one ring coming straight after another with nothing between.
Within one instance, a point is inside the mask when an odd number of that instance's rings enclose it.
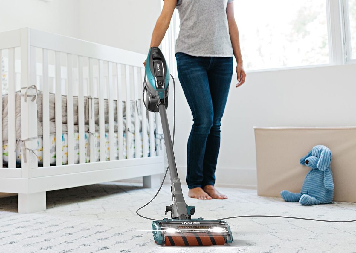
<instances>
[{"instance_id":1,"label":"all crib bedding behind slats, grey quilted bumper plus printed fabric","mask_svg":"<svg viewBox=\"0 0 356 253\"><path fill-rule=\"evenodd\" d=\"M38 91L37 93L37 111L38 111L38 122L37 122L37 154L38 154L38 166L43 166L43 114L42 114L42 91ZM91 108L89 105L91 101L94 102L94 107ZM148 124L148 114L146 114L146 122L147 128L142 129L142 110L141 110L141 100L137 102L134 100L130 101L130 108L131 108L131 120L129 125L127 126L130 129L130 132L135 128L135 107L137 107L138 112L138 120L139 120L139 131L140 136L139 140L139 154L135 154L135 138L134 133L132 134L131 143L126 144L126 102L122 102L122 125L123 129L122 132L124 133L124 147L123 147L123 154L124 159L127 158L127 149L129 149L131 154L133 154L130 158L142 157L142 130L146 131L148 135L150 135L150 128ZM49 94L49 133L50 133L50 164L56 165L56 118L55 118L55 95L50 93ZM117 102L116 100L113 101L113 109L114 109L114 148L115 148L115 158L119 159L119 147L118 147L118 124L117 124ZM16 92L15 94L15 105L16 105L16 140L21 137L21 94L20 92ZM13 150L8 149L8 95L4 94L2 96L2 160L3 166L6 167L9 161L9 152L14 152ZM148 113L148 112L146 112ZM93 137L89 139L89 115L94 115L95 120L95 152L96 152L96 161L99 161L100 157L100 141L99 141L99 99L98 98L91 98L91 97L84 97L84 140L85 140L85 162L90 162L90 143L93 140ZM108 109L108 100L104 100L104 115L105 115L105 124L104 124L104 131L105 131L105 160L109 160L109 109ZM74 130L74 163L79 163L79 134L78 134L78 97L73 97L73 130ZM63 164L68 164L68 134L67 134L67 96L62 95L62 161ZM154 134L156 135L156 124L153 122ZM159 135L158 135L159 137ZM148 137L148 140L150 138ZM162 145L162 138L155 138L155 142L153 145L156 147L157 145ZM150 143L148 141L147 146L149 147ZM21 167L21 145L18 145L16 148L16 167ZM33 147L35 148L35 147ZM150 156L150 148L148 148L147 156ZM156 148L155 148L156 150ZM156 152L155 152L156 153ZM156 155L156 154L153 154Z\"/></svg>"}]
</instances>

